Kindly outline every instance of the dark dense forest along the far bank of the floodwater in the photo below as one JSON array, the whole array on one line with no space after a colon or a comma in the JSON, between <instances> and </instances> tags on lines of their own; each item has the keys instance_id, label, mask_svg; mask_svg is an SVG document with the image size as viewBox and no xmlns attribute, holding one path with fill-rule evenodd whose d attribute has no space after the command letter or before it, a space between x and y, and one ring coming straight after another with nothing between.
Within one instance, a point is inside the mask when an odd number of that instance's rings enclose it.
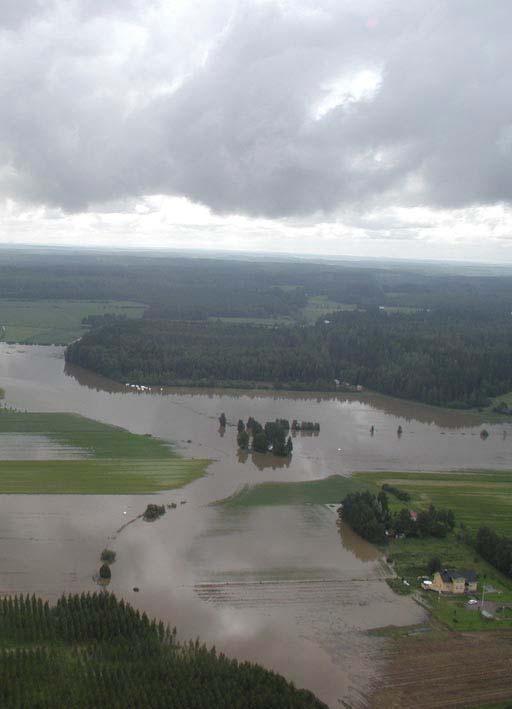
<instances>
[{"instance_id":1,"label":"dark dense forest along the far bank of the floodwater","mask_svg":"<svg viewBox=\"0 0 512 709\"><path fill-rule=\"evenodd\" d=\"M273 328L126 320L87 333L66 357L123 382L327 390L348 383L469 408L512 390L511 325L510 313L380 309Z\"/></svg>"}]
</instances>

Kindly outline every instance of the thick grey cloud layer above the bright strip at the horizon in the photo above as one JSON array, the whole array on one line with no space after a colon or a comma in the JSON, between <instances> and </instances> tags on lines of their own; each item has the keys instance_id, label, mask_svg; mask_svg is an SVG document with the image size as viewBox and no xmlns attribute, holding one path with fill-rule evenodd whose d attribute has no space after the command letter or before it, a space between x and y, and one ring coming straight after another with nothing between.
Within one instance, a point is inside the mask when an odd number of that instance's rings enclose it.
<instances>
[{"instance_id":1,"label":"thick grey cloud layer above the bright strip at the horizon","mask_svg":"<svg viewBox=\"0 0 512 709\"><path fill-rule=\"evenodd\" d=\"M270 217L512 199L507 2L2 10L4 196L80 211L164 193ZM363 70L375 95L317 119L326 87Z\"/></svg>"}]
</instances>

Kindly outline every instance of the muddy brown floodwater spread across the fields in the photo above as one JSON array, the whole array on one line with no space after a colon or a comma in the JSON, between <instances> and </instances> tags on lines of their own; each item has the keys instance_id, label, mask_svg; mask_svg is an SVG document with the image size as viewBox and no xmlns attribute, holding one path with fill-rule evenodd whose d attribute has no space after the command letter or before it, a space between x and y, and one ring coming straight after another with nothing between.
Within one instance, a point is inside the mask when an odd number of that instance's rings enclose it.
<instances>
[{"instance_id":1,"label":"muddy brown floodwater spread across the fields","mask_svg":"<svg viewBox=\"0 0 512 709\"><path fill-rule=\"evenodd\" d=\"M204 478L156 496L0 496L0 592L54 599L95 590L99 554L109 546L117 552L112 591L176 625L181 637L199 635L261 662L332 707L341 700L364 706L379 684L385 640L366 631L421 622L423 611L392 593L380 554L338 530L326 506L209 503L248 483L356 470L506 468L511 461L512 435L503 435L509 426L486 426L491 435L482 440L468 415L377 396L137 393L65 367L59 347L0 345L0 386L18 409L73 411L213 460ZM320 422L321 431L297 435L290 462L239 456L236 428L219 432L222 411L235 424L250 415L296 418ZM38 457L39 444L45 441L30 441L28 457ZM2 457L16 457L16 449L11 437ZM79 452L59 451L66 454ZM136 519L155 500L177 507L155 523Z\"/></svg>"}]
</instances>

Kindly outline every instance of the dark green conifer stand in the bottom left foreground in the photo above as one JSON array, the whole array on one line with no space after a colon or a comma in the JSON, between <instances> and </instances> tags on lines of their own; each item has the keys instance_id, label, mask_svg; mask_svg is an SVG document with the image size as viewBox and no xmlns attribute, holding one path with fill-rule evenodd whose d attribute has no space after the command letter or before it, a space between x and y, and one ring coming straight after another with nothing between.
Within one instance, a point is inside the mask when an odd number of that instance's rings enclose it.
<instances>
[{"instance_id":1,"label":"dark green conifer stand in the bottom left foreground","mask_svg":"<svg viewBox=\"0 0 512 709\"><path fill-rule=\"evenodd\" d=\"M108 593L0 600L0 706L326 709L308 691L150 621Z\"/></svg>"}]
</instances>

